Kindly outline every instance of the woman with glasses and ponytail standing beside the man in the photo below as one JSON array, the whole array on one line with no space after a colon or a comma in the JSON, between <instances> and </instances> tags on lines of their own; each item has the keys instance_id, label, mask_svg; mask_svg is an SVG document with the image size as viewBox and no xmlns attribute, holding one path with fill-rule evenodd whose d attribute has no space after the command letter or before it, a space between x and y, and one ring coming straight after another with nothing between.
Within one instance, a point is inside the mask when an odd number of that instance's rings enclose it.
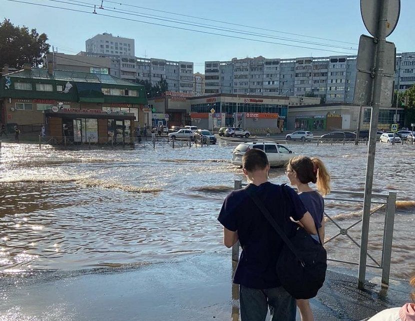
<instances>
[{"instance_id":1,"label":"woman with glasses and ponytail standing beside the man","mask_svg":"<svg viewBox=\"0 0 415 321\"><path fill-rule=\"evenodd\" d=\"M323 162L316 157L296 156L288 161L285 174L292 186L296 186L298 196L307 209L318 228L318 235L311 235L321 243L324 241L324 200L313 190L308 183L316 184L322 195L330 192L330 175ZM312 321L312 310L307 299L298 299L297 306L301 314L301 321Z\"/></svg>"}]
</instances>

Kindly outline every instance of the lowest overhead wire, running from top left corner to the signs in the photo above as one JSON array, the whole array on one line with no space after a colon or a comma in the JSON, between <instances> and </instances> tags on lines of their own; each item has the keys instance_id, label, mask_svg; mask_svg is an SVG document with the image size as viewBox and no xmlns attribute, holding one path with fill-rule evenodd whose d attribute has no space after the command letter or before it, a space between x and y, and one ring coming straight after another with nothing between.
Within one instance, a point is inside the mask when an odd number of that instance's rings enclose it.
<instances>
[{"instance_id":1,"label":"lowest overhead wire, running from top left corner to the signs","mask_svg":"<svg viewBox=\"0 0 415 321\"><path fill-rule=\"evenodd\" d=\"M102 13L97 13L95 11L95 9L92 12L88 12L88 11L83 11L83 10L79 10L79 9L73 9L73 8L61 7L61 6L55 6L55 5L48 5L48 4L41 4L41 3L33 3L33 2L22 1L22 0L5 0L5 1L25 3L25 4L37 5L37 6L43 6L43 7L51 7L51 8L56 8L56 9L61 9L61 10L66 10L66 11L72 11L72 12L97 14L97 15L100 15L100 16L105 16L105 17L110 17L110 18L117 18L117 19L122 19L122 20L126 20L126 21L134 21L134 22L141 22L141 23L152 24L152 25L159 25L159 26L175 28L175 29L179 29L179 30L187 30L187 31L192 31L192 32L218 35L218 36L223 36L223 37L227 37L227 38L235 38L235 39L249 40L249 41L255 41L255 42L263 42L263 43L284 45L284 46L290 46L290 47L298 47L298 48L305 48L305 49L312 49L312 50L319 50L319 51L329 51L329 52L335 52L335 53L350 54L350 52L344 52L344 51L336 51L336 50L330 50L330 49L322 49L322 48L307 47L307 46L294 45L294 44L266 41L266 40L260 40L260 39L252 39L252 38L247 38L247 37L242 37L242 36L229 35L229 34L223 34L223 33L217 33L217 32L210 32L210 31L203 31L203 30L194 30L194 29L189 29L189 28L184 28L184 27L179 27L179 26L172 26L172 25L166 25L166 24L162 24L162 23L155 23L155 22L137 20L137 19L127 18L127 17L122 17L122 16L102 14Z\"/></svg>"}]
</instances>

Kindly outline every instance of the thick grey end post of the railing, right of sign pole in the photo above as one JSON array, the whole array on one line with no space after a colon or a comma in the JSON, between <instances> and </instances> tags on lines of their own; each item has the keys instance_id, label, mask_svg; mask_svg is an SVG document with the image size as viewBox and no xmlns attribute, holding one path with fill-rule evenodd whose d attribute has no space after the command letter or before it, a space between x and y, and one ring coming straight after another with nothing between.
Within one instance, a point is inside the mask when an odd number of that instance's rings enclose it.
<instances>
[{"instance_id":1,"label":"thick grey end post of the railing, right of sign pole","mask_svg":"<svg viewBox=\"0 0 415 321\"><path fill-rule=\"evenodd\" d=\"M392 254L393 224L396 211L396 192L389 192L386 201L382 251L382 284L389 285L390 256Z\"/></svg>"}]
</instances>

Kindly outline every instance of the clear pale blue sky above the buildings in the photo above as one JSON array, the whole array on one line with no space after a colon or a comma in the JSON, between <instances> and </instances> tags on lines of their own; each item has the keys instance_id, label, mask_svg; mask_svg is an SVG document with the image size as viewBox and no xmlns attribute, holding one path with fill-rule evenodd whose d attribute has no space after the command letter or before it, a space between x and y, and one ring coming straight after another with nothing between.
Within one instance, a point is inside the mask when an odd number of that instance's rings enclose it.
<instances>
[{"instance_id":1,"label":"clear pale blue sky above the buildings","mask_svg":"<svg viewBox=\"0 0 415 321\"><path fill-rule=\"evenodd\" d=\"M76 2L69 0L22 0L54 6L64 6L91 12L93 9L65 4ZM97 4L100 0L78 0L80 2ZM304 41L314 41L324 44L351 46L357 48L358 37L361 33L368 34L360 17L359 0L118 0L125 4L139 5L152 9L171 11L181 14L194 15L220 21L244 24L298 33L306 36L315 36L335 39L355 44L330 42L328 40L312 39L284 33L255 30L246 27L232 26L198 20L194 18L176 16L162 12L150 11L142 8L119 6L103 1L106 9L128 10L129 13L154 14L157 16L172 17L193 22L207 23L215 27L243 29L248 32L259 32L276 37L288 37ZM100 16L99 13L126 16L131 19L151 21L155 23L171 24L179 27L195 29L193 26L152 20L134 15L122 15L110 11L96 9L98 14L65 11L57 8L40 7L31 4L0 0L0 18L9 18L12 23L35 27L38 32L45 32L51 45L57 46L60 52L76 53L85 50L85 40L97 33L109 32L113 35L135 39L135 55L164 58L170 60L193 61L194 70L203 72L205 60L228 60L232 57L246 57L262 55L269 58L289 58L297 56L334 55L328 49L349 52L340 48L330 48L312 44L287 42L278 39L265 39L257 36L235 34L236 36L252 37L272 42L285 42L295 45L319 48L299 48L271 43L254 42L243 39L222 37L218 35L202 34L193 31L178 30L164 26L145 24L136 21L121 20L112 17ZM415 51L415 1L401 0L401 12L398 25L388 37L396 44L398 51ZM210 32L226 33L218 30Z\"/></svg>"}]
</instances>

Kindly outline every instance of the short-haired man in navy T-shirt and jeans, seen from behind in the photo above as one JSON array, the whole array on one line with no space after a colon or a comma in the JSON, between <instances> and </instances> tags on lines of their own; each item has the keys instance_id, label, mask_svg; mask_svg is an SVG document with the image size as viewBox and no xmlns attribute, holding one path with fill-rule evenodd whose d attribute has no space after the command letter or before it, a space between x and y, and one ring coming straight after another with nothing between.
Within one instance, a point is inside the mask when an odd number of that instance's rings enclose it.
<instances>
[{"instance_id":1,"label":"short-haired man in navy T-shirt and jeans, seen from behind","mask_svg":"<svg viewBox=\"0 0 415 321\"><path fill-rule=\"evenodd\" d=\"M272 320L294 321L295 299L281 286L275 269L283 241L250 195L263 202L288 237L298 227L290 217L310 233L316 233L314 221L291 187L268 182L269 163L262 150L252 148L244 153L242 171L248 186L226 196L217 218L223 225L225 246L238 240L242 246L233 277L239 284L241 320L263 321L269 306Z\"/></svg>"}]
</instances>

